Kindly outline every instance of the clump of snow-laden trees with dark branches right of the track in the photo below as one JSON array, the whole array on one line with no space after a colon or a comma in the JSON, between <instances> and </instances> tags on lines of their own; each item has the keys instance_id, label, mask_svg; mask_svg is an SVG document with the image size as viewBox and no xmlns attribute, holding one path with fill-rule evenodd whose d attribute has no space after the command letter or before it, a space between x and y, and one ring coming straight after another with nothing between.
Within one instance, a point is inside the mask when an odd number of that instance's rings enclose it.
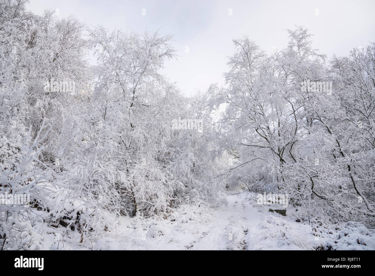
<instances>
[{"instance_id":1,"label":"clump of snow-laden trees with dark branches right of the track","mask_svg":"<svg viewBox=\"0 0 375 276\"><path fill-rule=\"evenodd\" d=\"M288 33L271 57L247 37L234 40L228 88L213 93L226 105L223 149L239 157L228 173L315 214L371 219L373 45L329 68L306 28Z\"/></svg>"}]
</instances>

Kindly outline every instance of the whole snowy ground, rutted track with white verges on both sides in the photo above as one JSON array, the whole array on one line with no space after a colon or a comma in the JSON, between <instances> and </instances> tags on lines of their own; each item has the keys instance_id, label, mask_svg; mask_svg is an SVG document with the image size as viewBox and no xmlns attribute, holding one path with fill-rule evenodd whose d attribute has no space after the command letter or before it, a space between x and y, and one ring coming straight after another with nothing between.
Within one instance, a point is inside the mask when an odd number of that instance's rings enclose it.
<instances>
[{"instance_id":1,"label":"whole snowy ground, rutted track with white verges on both sides","mask_svg":"<svg viewBox=\"0 0 375 276\"><path fill-rule=\"evenodd\" d=\"M216 208L182 206L166 220L126 217L118 233L108 233L93 249L375 249L374 233L359 224L329 231L296 222L288 216L291 207L287 217L269 212L270 207L257 205L255 193L241 192L226 195Z\"/></svg>"}]
</instances>

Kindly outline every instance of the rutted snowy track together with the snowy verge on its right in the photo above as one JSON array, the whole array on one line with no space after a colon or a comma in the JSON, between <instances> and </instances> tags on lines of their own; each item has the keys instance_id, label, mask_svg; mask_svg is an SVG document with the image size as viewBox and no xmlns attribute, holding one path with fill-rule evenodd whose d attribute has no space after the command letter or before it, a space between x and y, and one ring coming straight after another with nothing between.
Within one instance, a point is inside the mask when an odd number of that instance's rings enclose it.
<instances>
[{"instance_id":1,"label":"rutted snowy track together with the snowy verge on its right","mask_svg":"<svg viewBox=\"0 0 375 276\"><path fill-rule=\"evenodd\" d=\"M226 196L226 201L214 211L212 225L191 249L313 249L310 226L268 212L270 206L257 205L254 195L236 193ZM288 241L287 230L294 239Z\"/></svg>"}]
</instances>

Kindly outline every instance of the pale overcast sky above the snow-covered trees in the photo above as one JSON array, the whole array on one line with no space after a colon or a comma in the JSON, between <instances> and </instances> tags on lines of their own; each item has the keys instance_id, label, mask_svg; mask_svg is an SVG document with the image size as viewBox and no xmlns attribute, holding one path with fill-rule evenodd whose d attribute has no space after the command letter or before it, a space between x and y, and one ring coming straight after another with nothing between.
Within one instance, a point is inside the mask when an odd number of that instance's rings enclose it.
<instances>
[{"instance_id":1,"label":"pale overcast sky above the snow-covered trees","mask_svg":"<svg viewBox=\"0 0 375 276\"><path fill-rule=\"evenodd\" d=\"M36 14L58 9L60 17L74 14L109 30L160 28L161 34L174 34L179 57L167 62L163 73L186 95L223 82L226 57L234 52L231 40L243 35L271 52L287 45L285 29L303 25L315 34L314 48L329 57L375 42L375 0L30 0L28 7Z\"/></svg>"}]
</instances>

